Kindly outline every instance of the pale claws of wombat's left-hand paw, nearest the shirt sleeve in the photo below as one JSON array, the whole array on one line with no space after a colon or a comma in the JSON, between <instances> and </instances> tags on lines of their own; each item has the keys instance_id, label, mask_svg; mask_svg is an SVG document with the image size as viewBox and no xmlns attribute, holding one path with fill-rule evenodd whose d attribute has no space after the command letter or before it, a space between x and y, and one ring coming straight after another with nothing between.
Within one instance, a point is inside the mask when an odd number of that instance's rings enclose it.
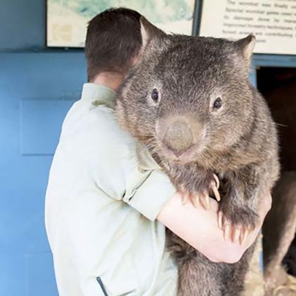
<instances>
[{"instance_id":1,"label":"pale claws of wombat's left-hand paw, nearest the shirt sleeve","mask_svg":"<svg viewBox=\"0 0 296 296\"><path fill-rule=\"evenodd\" d=\"M218 191L219 188L219 179L213 174L213 180L210 182L209 189L204 189L199 191L199 186L195 191L186 190L185 186L181 187L182 192L182 202L191 202L195 207L202 206L205 210L210 209L210 195L209 192L213 192L216 199L220 201L220 194Z\"/></svg>"}]
</instances>

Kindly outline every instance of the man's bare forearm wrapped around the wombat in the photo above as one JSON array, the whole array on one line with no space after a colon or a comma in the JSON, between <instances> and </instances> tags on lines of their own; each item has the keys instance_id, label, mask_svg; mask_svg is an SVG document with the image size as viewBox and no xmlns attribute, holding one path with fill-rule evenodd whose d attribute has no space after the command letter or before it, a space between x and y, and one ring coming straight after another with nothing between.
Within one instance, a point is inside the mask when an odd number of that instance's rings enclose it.
<instances>
[{"instance_id":1,"label":"man's bare forearm wrapped around the wombat","mask_svg":"<svg viewBox=\"0 0 296 296\"><path fill-rule=\"evenodd\" d=\"M157 220L211 261L234 263L253 244L271 208L270 193L266 193L263 200L259 211L260 223L242 245L224 240L218 225L218 202L214 199L210 199L210 209L206 211L191 203L183 205L181 194L176 193L164 205Z\"/></svg>"}]
</instances>

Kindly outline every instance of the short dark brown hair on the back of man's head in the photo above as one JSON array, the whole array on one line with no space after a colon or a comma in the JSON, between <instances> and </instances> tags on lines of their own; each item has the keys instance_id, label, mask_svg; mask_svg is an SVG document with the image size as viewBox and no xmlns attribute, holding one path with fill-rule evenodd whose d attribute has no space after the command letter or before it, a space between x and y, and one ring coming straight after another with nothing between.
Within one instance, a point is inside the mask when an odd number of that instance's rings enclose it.
<instances>
[{"instance_id":1,"label":"short dark brown hair on the back of man's head","mask_svg":"<svg viewBox=\"0 0 296 296\"><path fill-rule=\"evenodd\" d=\"M124 72L141 44L140 13L128 8L111 8L88 24L85 56L88 81L101 72Z\"/></svg>"}]
</instances>

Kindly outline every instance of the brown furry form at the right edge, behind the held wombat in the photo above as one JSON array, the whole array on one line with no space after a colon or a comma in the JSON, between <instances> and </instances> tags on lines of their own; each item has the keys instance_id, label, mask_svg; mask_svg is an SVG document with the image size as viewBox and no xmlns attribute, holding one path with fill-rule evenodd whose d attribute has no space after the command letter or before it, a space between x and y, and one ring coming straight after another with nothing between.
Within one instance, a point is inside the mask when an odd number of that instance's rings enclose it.
<instances>
[{"instance_id":1,"label":"brown furry form at the right edge, behind the held wombat","mask_svg":"<svg viewBox=\"0 0 296 296\"><path fill-rule=\"evenodd\" d=\"M273 207L263 224L266 296L273 295L274 289L289 281L282 261L296 232L296 172L282 174L272 198ZM288 295L289 285L284 291Z\"/></svg>"}]
</instances>

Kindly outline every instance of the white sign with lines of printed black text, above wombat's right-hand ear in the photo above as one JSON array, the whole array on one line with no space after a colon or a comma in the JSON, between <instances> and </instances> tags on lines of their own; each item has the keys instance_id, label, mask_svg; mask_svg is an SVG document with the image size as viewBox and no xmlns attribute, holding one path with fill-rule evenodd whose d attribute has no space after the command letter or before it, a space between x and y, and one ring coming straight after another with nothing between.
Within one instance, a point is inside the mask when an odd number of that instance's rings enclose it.
<instances>
[{"instance_id":1,"label":"white sign with lines of printed black text, above wombat's right-hand ear","mask_svg":"<svg viewBox=\"0 0 296 296\"><path fill-rule=\"evenodd\" d=\"M200 36L256 36L254 52L296 54L296 0L203 0Z\"/></svg>"}]
</instances>

